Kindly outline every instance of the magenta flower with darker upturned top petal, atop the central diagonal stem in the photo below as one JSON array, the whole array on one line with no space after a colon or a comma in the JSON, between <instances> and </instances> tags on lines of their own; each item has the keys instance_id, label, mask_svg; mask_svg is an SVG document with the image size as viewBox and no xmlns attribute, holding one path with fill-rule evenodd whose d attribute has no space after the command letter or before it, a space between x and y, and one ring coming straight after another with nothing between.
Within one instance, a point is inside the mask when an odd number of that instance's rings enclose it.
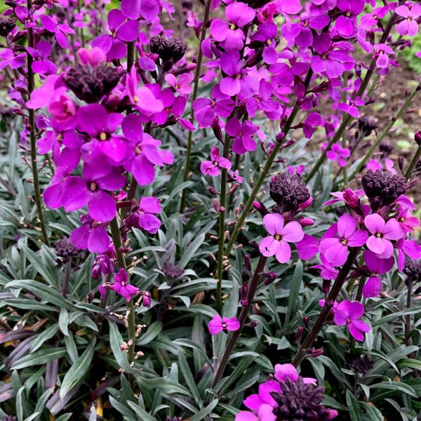
<instances>
[{"instance_id":1,"label":"magenta flower with darker upturned top petal, atop the central diagonal stem","mask_svg":"<svg viewBox=\"0 0 421 421\"><path fill-rule=\"evenodd\" d=\"M326 72L328 78L341 76L345 72L344 62L349 60L343 44L331 44L330 35L322 33L314 38L313 47L319 55L313 55L311 66L315 73Z\"/></svg>"}]
</instances>

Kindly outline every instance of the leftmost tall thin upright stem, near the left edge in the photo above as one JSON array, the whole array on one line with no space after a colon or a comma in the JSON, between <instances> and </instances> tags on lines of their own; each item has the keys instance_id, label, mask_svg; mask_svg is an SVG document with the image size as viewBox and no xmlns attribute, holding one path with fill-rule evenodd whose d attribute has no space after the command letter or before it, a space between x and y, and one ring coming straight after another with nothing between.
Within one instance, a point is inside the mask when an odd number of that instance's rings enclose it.
<instances>
[{"instance_id":1,"label":"leftmost tall thin upright stem, near the left edge","mask_svg":"<svg viewBox=\"0 0 421 421\"><path fill-rule=\"evenodd\" d=\"M32 8L32 0L27 1L28 11ZM28 46L34 48L34 32L32 28L28 28ZM34 81L34 71L32 70L32 55L27 53L27 66L28 66L28 93L29 97L31 96L32 91L34 91L35 81ZM48 234L46 230L46 222L44 220L44 213L42 211L41 203L41 189L39 188L39 177L38 177L38 168L37 168L37 159L36 159L36 137L35 137L35 112L33 109L28 109L29 113L29 137L31 140L31 164L32 164L32 178L34 179L34 189L35 189L35 203L36 203L36 212L38 213L39 225L41 225L42 237L46 246L49 245Z\"/></svg>"}]
</instances>

